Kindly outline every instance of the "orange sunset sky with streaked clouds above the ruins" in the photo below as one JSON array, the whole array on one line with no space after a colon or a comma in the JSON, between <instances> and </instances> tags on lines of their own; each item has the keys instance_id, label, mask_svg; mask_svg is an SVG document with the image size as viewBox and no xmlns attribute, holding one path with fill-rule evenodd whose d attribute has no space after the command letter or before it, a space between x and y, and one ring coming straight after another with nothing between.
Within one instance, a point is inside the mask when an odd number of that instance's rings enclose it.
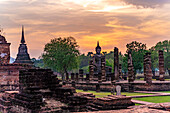
<instances>
[{"instance_id":1,"label":"orange sunset sky with streaked clouds above the ruins","mask_svg":"<svg viewBox=\"0 0 170 113\"><path fill-rule=\"evenodd\" d=\"M132 41L154 46L170 39L170 0L0 0L0 25L16 58L21 26L30 57L38 58L52 38L73 36L81 53Z\"/></svg>"}]
</instances>

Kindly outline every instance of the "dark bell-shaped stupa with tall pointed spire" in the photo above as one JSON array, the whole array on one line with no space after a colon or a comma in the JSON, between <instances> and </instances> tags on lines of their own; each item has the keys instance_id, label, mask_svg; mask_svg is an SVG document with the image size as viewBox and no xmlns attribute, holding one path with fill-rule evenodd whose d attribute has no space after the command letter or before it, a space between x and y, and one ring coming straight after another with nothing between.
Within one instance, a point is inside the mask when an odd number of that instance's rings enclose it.
<instances>
[{"instance_id":1,"label":"dark bell-shaped stupa with tall pointed spire","mask_svg":"<svg viewBox=\"0 0 170 113\"><path fill-rule=\"evenodd\" d=\"M18 48L17 58L14 63L33 64L33 62L30 59L30 56L27 52L27 45L25 44L24 27L23 26L22 26L21 44Z\"/></svg>"}]
</instances>

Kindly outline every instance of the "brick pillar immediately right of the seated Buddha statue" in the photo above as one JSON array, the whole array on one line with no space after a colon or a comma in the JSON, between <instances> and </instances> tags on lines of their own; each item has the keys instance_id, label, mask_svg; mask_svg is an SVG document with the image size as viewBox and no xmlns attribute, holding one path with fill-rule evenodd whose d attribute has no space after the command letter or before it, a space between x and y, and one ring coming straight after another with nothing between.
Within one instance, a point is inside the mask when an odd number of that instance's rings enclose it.
<instances>
[{"instance_id":1,"label":"brick pillar immediately right of the seated Buddha statue","mask_svg":"<svg viewBox=\"0 0 170 113\"><path fill-rule=\"evenodd\" d=\"M105 56L102 56L101 58L101 69L102 69L102 81L106 81L106 61L105 61Z\"/></svg>"}]
</instances>

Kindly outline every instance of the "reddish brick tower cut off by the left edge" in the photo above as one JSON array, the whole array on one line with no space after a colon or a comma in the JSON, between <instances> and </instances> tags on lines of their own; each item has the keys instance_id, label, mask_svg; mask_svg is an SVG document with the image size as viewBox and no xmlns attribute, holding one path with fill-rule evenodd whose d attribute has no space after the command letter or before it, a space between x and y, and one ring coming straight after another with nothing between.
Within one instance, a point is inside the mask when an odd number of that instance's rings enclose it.
<instances>
[{"instance_id":1,"label":"reddish brick tower cut off by the left edge","mask_svg":"<svg viewBox=\"0 0 170 113\"><path fill-rule=\"evenodd\" d=\"M4 36L0 35L0 64L9 64L10 61L10 45Z\"/></svg>"}]
</instances>

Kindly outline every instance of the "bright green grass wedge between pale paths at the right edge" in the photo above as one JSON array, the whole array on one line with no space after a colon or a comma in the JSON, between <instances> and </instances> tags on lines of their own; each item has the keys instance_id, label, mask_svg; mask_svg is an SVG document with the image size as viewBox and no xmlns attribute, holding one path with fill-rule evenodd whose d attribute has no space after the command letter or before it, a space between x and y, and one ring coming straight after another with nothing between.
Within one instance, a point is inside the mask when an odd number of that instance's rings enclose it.
<instances>
[{"instance_id":1,"label":"bright green grass wedge between pale paths at the right edge","mask_svg":"<svg viewBox=\"0 0 170 113\"><path fill-rule=\"evenodd\" d=\"M156 97L143 97L143 98L135 98L134 100L152 102L152 103L163 103L170 102L170 96L156 96Z\"/></svg>"}]
</instances>

